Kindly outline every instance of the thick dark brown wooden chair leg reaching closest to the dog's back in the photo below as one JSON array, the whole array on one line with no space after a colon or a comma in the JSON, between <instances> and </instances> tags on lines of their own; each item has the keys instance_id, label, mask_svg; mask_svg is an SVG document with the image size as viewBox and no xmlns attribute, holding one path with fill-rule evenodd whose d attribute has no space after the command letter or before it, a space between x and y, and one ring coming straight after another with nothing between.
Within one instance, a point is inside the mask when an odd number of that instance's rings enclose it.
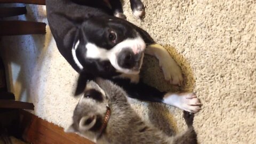
<instances>
[{"instance_id":1,"label":"thick dark brown wooden chair leg reaching closest to the dog's back","mask_svg":"<svg viewBox=\"0 0 256 144\"><path fill-rule=\"evenodd\" d=\"M0 36L45 34L46 23L32 21L0 21Z\"/></svg>"}]
</instances>

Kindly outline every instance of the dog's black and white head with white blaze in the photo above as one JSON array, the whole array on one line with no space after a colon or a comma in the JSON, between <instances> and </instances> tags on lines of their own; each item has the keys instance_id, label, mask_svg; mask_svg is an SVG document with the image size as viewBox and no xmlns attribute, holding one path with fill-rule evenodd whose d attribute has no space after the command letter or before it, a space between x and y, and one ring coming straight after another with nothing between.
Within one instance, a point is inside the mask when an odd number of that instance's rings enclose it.
<instances>
[{"instance_id":1,"label":"dog's black and white head with white blaze","mask_svg":"<svg viewBox=\"0 0 256 144\"><path fill-rule=\"evenodd\" d=\"M73 57L83 69L88 60L109 61L118 73L138 74L146 43L131 23L115 17L84 21L73 46Z\"/></svg>"}]
</instances>

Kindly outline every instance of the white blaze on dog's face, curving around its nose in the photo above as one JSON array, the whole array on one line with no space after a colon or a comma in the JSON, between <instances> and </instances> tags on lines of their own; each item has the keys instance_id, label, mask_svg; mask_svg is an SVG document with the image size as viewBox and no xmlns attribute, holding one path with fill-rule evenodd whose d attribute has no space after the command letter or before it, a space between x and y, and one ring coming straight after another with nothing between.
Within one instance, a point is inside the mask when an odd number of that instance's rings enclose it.
<instances>
[{"instance_id":1,"label":"white blaze on dog's face, curving around its nose","mask_svg":"<svg viewBox=\"0 0 256 144\"><path fill-rule=\"evenodd\" d=\"M99 47L93 43L87 43L85 47L87 49L86 58L109 60L111 65L119 72L126 74L138 74L139 71L132 71L130 69L119 67L117 63L117 55L124 48L130 48L134 54L137 54L145 50L146 44L140 36L137 36L135 38L125 39L123 42L114 46L111 50L103 49L102 47Z\"/></svg>"}]
</instances>

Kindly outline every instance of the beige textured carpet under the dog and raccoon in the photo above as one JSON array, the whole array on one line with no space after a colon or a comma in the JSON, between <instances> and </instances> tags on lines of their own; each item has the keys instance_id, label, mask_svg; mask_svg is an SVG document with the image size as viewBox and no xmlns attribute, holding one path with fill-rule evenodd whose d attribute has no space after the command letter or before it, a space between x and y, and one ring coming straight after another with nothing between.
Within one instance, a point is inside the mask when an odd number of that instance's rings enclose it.
<instances>
[{"instance_id":1,"label":"beige textured carpet under the dog and raccoon","mask_svg":"<svg viewBox=\"0 0 256 144\"><path fill-rule=\"evenodd\" d=\"M129 1L124 3L127 19L147 30L182 67L181 90L202 100L194 123L199 142L256 143L256 1L144 0L143 21L132 17ZM30 5L28 13L19 19L46 21L43 6ZM77 74L59 54L49 27L45 36L3 41L10 90L33 102L39 117L66 127L77 102L71 96ZM159 89L179 89L163 82L153 58L146 58L142 73ZM166 133L185 129L181 110L132 101L143 118Z\"/></svg>"}]
</instances>

